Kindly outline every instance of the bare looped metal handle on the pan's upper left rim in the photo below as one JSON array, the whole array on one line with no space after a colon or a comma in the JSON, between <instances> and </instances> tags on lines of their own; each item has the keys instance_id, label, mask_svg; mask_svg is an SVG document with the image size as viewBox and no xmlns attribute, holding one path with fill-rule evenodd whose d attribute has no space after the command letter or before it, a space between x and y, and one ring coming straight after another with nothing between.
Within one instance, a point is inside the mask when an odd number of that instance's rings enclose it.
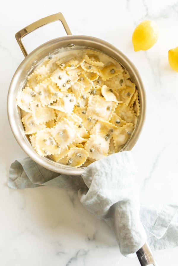
<instances>
[{"instance_id":1,"label":"bare looped metal handle on the pan's upper left rim","mask_svg":"<svg viewBox=\"0 0 178 266\"><path fill-rule=\"evenodd\" d=\"M31 23L30 25L26 26L25 28L21 29L20 31L18 31L16 34L15 34L15 38L18 42L18 45L20 46L20 49L22 50L22 53L23 55L26 57L28 55L24 45L23 45L23 42L22 42L22 38L24 36L26 36L28 33L48 24L48 23L51 23L51 22L54 22L56 20L60 20L67 35L71 35L71 31L69 29L69 26L67 25L67 22L65 20L65 18L63 17L62 13L57 13L57 14L53 14L53 15L50 15L50 16L47 16L45 18L41 18L37 21L35 21L34 23Z\"/></svg>"}]
</instances>

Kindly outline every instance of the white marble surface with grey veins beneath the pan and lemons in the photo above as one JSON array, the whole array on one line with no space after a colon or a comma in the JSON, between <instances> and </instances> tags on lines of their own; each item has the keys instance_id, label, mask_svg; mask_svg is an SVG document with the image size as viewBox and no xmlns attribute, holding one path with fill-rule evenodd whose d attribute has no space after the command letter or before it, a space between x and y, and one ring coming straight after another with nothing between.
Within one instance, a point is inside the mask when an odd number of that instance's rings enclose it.
<instances>
[{"instance_id":1,"label":"white marble surface with grey veins beneath the pan and lemons","mask_svg":"<svg viewBox=\"0 0 178 266\"><path fill-rule=\"evenodd\" d=\"M178 166L178 73L168 64L168 50L178 46L176 0L3 1L0 9L1 160L0 265L139 265L120 254L109 227L91 216L77 195L53 187L16 191L7 187L10 164L26 156L9 127L6 100L9 83L23 54L15 33L28 24L62 12L72 34L98 37L122 50L138 68L147 94L147 116L133 148L141 203L174 203ZM135 26L154 20L158 42L134 52ZM43 42L65 35L55 22L24 38L30 52ZM45 37L44 37L45 36ZM176 266L178 248L155 251L158 265Z\"/></svg>"}]
</instances>

